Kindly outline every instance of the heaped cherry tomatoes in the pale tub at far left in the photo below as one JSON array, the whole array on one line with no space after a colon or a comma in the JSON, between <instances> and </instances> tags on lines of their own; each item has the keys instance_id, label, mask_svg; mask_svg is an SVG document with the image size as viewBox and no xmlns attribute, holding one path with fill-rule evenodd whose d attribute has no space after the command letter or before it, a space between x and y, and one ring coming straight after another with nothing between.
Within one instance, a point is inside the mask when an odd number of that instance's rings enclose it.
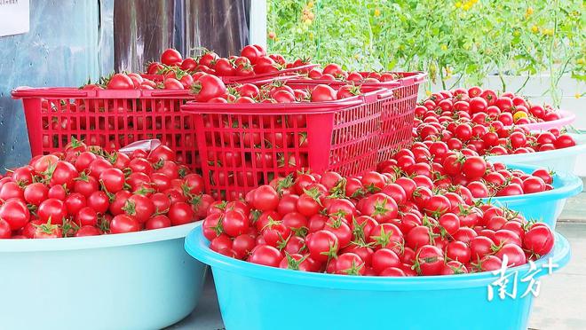
<instances>
[{"instance_id":1,"label":"heaped cherry tomatoes in the pale tub at far left","mask_svg":"<svg viewBox=\"0 0 586 330\"><path fill-rule=\"evenodd\" d=\"M0 239L139 232L192 223L213 199L165 145L107 153L73 139L0 178Z\"/></svg>"}]
</instances>

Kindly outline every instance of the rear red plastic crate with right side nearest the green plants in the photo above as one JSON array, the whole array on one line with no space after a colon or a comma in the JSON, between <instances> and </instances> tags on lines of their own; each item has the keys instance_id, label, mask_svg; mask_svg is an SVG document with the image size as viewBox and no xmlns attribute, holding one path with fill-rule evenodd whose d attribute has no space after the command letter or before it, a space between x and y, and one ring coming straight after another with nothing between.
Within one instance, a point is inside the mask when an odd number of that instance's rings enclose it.
<instances>
[{"instance_id":1,"label":"rear red plastic crate with right side nearest the green plants","mask_svg":"<svg viewBox=\"0 0 586 330\"><path fill-rule=\"evenodd\" d=\"M360 72L368 76L368 72ZM419 85L424 83L427 74L424 72L393 72L400 78L391 82L357 83L362 87L388 89L383 94L383 112L381 114L381 137L378 152L378 161L384 161L401 148L411 144L411 127L415 119L415 106ZM320 79L293 78L291 83L318 84L325 83L332 87L347 84L348 82L330 82Z\"/></svg>"}]
</instances>

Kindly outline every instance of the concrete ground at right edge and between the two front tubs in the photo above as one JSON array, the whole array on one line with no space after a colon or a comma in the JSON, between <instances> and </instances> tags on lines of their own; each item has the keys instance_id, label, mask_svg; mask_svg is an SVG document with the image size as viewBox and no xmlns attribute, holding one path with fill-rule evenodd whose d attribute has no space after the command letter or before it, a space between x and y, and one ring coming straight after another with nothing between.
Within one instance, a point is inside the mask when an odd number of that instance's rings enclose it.
<instances>
[{"instance_id":1,"label":"concrete ground at right edge and between the two front tubs","mask_svg":"<svg viewBox=\"0 0 586 330\"><path fill-rule=\"evenodd\" d=\"M541 292L535 299L529 328L586 329L586 193L567 200L558 219L557 231L570 241L572 259L562 270L541 279ZM209 278L194 313L169 329L217 330L223 327L216 291Z\"/></svg>"}]
</instances>

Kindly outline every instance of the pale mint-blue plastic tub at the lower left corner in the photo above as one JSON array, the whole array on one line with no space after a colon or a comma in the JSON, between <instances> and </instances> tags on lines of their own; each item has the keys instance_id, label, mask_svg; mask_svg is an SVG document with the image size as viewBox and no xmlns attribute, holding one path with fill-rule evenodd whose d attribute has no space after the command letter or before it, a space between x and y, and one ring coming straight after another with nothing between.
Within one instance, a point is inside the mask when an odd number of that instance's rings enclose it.
<instances>
[{"instance_id":1,"label":"pale mint-blue plastic tub at the lower left corner","mask_svg":"<svg viewBox=\"0 0 586 330\"><path fill-rule=\"evenodd\" d=\"M197 304L206 268L186 254L200 223L58 240L0 240L0 328L159 329Z\"/></svg>"}]
</instances>

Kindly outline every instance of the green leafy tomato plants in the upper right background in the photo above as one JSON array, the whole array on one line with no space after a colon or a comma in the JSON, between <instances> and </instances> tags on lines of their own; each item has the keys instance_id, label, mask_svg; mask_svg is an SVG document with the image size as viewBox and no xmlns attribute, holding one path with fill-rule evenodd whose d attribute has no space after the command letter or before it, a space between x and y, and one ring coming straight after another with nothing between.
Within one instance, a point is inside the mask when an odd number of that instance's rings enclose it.
<instances>
[{"instance_id":1,"label":"green leafy tomato plants in the upper right background","mask_svg":"<svg viewBox=\"0 0 586 330\"><path fill-rule=\"evenodd\" d=\"M582 0L267 0L270 51L346 69L586 80ZM503 82L503 88L504 82Z\"/></svg>"}]
</instances>

